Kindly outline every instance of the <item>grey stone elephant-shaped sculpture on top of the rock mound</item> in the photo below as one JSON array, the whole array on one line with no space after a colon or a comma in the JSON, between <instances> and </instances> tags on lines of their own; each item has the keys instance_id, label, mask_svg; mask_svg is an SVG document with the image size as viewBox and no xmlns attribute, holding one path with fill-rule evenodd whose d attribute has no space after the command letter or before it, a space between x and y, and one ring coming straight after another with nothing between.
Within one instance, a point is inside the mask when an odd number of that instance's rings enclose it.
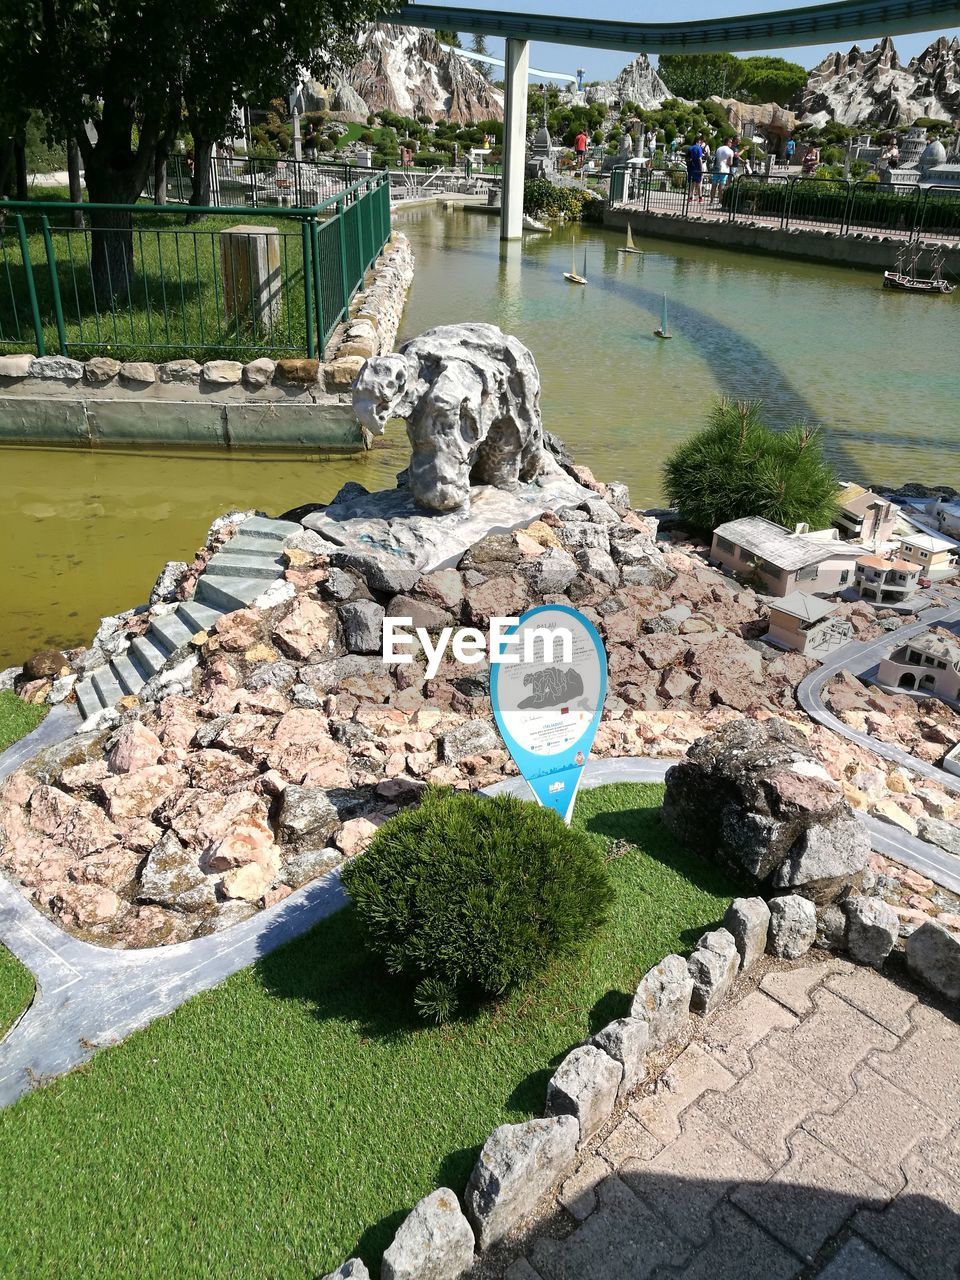
<instances>
[{"instance_id":1,"label":"grey stone elephant-shaped sculpture on top of the rock mound","mask_svg":"<svg viewBox=\"0 0 960 1280\"><path fill-rule=\"evenodd\" d=\"M430 511L468 506L471 484L516 489L543 468L540 375L495 325L440 325L369 360L353 407L375 435L406 420L410 490Z\"/></svg>"}]
</instances>

